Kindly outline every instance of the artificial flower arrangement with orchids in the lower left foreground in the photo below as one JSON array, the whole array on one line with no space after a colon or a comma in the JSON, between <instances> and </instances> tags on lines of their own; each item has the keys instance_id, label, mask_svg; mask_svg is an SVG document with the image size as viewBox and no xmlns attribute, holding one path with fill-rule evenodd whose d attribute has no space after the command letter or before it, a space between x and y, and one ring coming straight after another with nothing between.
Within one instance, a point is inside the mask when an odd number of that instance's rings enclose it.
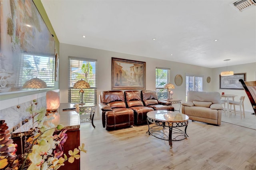
<instances>
[{"instance_id":1,"label":"artificial flower arrangement with orchids in the lower left foreground","mask_svg":"<svg viewBox=\"0 0 256 170\"><path fill-rule=\"evenodd\" d=\"M26 109L32 114L33 128L22 133L25 138L24 153L16 155L17 145L13 143L8 126L4 120L0 121L0 169L5 170L57 170L64 162L73 163L79 159L79 152L85 152L84 144L69 150L67 156L63 152L63 144L68 136L63 125L57 127L51 123L53 117L49 116L46 109L36 109L36 100ZM54 114L54 113L50 113ZM59 134L54 131L61 130Z\"/></svg>"}]
</instances>

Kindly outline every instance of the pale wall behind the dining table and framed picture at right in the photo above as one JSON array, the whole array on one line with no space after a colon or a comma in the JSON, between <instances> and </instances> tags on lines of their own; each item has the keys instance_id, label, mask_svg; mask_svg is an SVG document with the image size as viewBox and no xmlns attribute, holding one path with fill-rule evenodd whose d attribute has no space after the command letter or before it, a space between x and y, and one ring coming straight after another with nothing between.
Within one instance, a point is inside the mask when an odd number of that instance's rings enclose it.
<instances>
[{"instance_id":1,"label":"pale wall behind the dining table and framed picture at right","mask_svg":"<svg viewBox=\"0 0 256 170\"><path fill-rule=\"evenodd\" d=\"M239 89L220 89L220 72L226 71L226 67L218 67L212 69L214 77L212 77L213 84L213 91L224 92L226 94L234 94L237 95L235 97L236 101L239 101L240 96L246 96L244 99L244 109L245 111L249 111L254 113L252 109L252 105L249 101L244 90ZM234 71L234 73L246 73L246 81L255 81L256 80L256 63L248 63L248 64L241 64L241 65L232 65L228 66L228 71Z\"/></svg>"}]
</instances>

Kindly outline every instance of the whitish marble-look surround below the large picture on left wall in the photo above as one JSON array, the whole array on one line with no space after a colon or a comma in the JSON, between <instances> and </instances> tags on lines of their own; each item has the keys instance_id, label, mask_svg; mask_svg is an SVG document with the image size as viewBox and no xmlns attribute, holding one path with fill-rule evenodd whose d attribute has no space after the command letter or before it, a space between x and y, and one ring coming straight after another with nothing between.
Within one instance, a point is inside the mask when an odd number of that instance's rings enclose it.
<instances>
[{"instance_id":1,"label":"whitish marble-look surround below the large picture on left wall","mask_svg":"<svg viewBox=\"0 0 256 170\"><path fill-rule=\"evenodd\" d=\"M58 90L54 91L59 92ZM37 103L36 109L46 108L46 92L0 101L0 120L5 120L10 132L22 126L25 119L30 119L31 114L26 109L34 99Z\"/></svg>"}]
</instances>

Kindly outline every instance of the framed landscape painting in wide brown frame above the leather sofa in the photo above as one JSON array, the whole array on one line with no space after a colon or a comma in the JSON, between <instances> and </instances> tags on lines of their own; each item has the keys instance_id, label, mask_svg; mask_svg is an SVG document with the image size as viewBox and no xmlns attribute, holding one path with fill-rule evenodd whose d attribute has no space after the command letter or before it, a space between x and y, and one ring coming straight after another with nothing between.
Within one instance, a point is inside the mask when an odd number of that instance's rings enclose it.
<instances>
[{"instance_id":1,"label":"framed landscape painting in wide brown frame above the leather sofa","mask_svg":"<svg viewBox=\"0 0 256 170\"><path fill-rule=\"evenodd\" d=\"M146 62L112 57L112 90L145 90Z\"/></svg>"}]
</instances>

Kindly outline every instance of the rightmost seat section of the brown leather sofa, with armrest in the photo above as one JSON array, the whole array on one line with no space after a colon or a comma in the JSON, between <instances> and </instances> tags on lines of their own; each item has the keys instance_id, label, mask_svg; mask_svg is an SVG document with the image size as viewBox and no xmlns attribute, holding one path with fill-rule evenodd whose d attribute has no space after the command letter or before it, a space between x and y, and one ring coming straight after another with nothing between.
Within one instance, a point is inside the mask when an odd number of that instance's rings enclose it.
<instances>
[{"instance_id":1,"label":"rightmost seat section of the brown leather sofa, with armrest","mask_svg":"<svg viewBox=\"0 0 256 170\"><path fill-rule=\"evenodd\" d=\"M146 107L152 107L154 110L174 111L172 103L164 100L159 100L156 91L142 90L141 97L143 104Z\"/></svg>"}]
</instances>

